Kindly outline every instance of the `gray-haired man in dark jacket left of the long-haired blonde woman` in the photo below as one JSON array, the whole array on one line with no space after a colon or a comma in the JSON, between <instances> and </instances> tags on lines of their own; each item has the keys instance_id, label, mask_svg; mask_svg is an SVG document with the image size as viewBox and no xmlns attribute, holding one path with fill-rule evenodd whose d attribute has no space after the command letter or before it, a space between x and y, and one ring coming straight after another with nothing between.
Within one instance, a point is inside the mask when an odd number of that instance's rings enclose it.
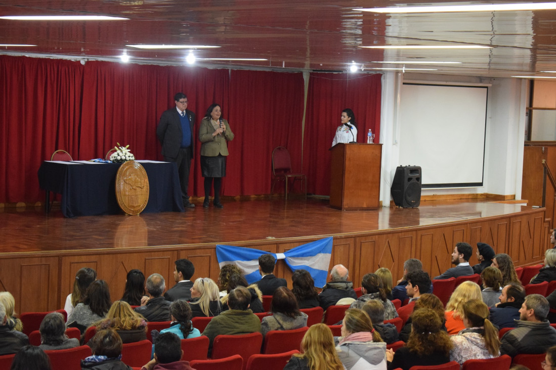
<instances>
[{"instance_id":1,"label":"gray-haired man in dark jacket left of the long-haired blonde woman","mask_svg":"<svg viewBox=\"0 0 556 370\"><path fill-rule=\"evenodd\" d=\"M170 301L162 296L166 284L161 274L152 274L147 278L145 291L148 296L141 298L141 306L135 308L135 312L145 317L146 321L169 321Z\"/></svg>"}]
</instances>

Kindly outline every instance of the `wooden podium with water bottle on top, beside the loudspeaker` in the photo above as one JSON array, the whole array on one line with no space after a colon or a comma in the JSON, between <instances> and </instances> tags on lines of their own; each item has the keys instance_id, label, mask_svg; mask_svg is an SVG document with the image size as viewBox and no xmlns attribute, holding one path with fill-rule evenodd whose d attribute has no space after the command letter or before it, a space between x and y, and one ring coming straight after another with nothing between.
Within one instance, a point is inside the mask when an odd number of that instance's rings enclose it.
<instances>
[{"instance_id":1,"label":"wooden podium with water bottle on top, beside the loudspeaker","mask_svg":"<svg viewBox=\"0 0 556 370\"><path fill-rule=\"evenodd\" d=\"M378 209L382 144L336 144L330 168L330 207Z\"/></svg>"}]
</instances>

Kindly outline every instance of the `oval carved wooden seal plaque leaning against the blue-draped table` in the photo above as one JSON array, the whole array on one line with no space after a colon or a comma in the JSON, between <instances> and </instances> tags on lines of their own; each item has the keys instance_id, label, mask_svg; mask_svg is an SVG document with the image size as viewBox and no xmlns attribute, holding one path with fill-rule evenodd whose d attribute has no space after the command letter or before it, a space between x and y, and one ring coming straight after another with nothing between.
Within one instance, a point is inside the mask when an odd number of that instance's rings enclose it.
<instances>
[{"instance_id":1,"label":"oval carved wooden seal plaque leaning against the blue-draped table","mask_svg":"<svg viewBox=\"0 0 556 370\"><path fill-rule=\"evenodd\" d=\"M148 202L148 177L145 168L135 161L127 161L116 174L116 199L127 214L139 214Z\"/></svg>"}]
</instances>

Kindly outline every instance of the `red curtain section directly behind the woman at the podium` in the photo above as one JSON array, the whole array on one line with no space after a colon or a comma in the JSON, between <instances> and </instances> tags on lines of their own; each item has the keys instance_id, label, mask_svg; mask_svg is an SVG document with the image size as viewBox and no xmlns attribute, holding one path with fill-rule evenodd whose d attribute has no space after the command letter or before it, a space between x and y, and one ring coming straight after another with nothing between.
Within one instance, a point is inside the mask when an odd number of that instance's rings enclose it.
<instances>
[{"instance_id":1,"label":"red curtain section directly behind the woman at the podium","mask_svg":"<svg viewBox=\"0 0 556 370\"><path fill-rule=\"evenodd\" d=\"M307 192L330 194L330 152L341 111L350 108L357 122L357 142L369 129L380 137L381 74L311 73L303 144ZM364 168L361 169L364 171Z\"/></svg>"}]
</instances>

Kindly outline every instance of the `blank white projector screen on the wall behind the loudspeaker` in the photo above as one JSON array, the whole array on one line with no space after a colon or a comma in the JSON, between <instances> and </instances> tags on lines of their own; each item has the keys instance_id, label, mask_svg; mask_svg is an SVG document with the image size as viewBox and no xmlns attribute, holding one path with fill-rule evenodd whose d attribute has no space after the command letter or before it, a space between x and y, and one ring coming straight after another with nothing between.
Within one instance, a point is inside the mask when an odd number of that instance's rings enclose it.
<instances>
[{"instance_id":1,"label":"blank white projector screen on the wall behind the loudspeaker","mask_svg":"<svg viewBox=\"0 0 556 370\"><path fill-rule=\"evenodd\" d=\"M404 83L400 166L421 166L423 188L483 186L488 87Z\"/></svg>"}]
</instances>

